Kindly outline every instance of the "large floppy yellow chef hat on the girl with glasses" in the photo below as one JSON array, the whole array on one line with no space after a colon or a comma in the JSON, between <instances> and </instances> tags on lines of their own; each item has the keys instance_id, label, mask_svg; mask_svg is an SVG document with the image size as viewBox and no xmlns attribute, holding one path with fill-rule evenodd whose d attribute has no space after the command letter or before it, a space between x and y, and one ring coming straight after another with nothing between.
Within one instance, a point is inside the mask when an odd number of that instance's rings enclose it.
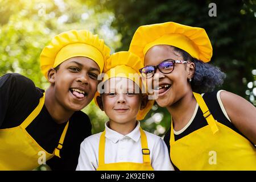
<instances>
[{"instance_id":1,"label":"large floppy yellow chef hat on the girl with glasses","mask_svg":"<svg viewBox=\"0 0 256 182\"><path fill-rule=\"evenodd\" d=\"M212 57L212 44L204 28L175 22L141 26L131 40L129 51L144 62L148 49L156 45L170 45L183 49L192 57L207 63Z\"/></svg>"}]
</instances>

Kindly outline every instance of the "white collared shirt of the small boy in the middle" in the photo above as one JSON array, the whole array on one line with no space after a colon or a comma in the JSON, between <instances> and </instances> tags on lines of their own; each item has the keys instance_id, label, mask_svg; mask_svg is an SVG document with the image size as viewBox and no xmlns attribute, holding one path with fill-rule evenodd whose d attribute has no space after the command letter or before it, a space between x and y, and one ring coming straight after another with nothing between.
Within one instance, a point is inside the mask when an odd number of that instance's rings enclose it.
<instances>
[{"instance_id":1,"label":"white collared shirt of the small boy in the middle","mask_svg":"<svg viewBox=\"0 0 256 182\"><path fill-rule=\"evenodd\" d=\"M140 123L138 122L135 129L127 135L122 135L110 129L107 123L105 123L105 163L143 163L141 133L139 131ZM150 150L152 168L156 171L174 170L163 139L147 131L144 132L146 133ZM81 143L77 171L94 171L98 168L98 148L101 134L102 132L91 135Z\"/></svg>"}]
</instances>

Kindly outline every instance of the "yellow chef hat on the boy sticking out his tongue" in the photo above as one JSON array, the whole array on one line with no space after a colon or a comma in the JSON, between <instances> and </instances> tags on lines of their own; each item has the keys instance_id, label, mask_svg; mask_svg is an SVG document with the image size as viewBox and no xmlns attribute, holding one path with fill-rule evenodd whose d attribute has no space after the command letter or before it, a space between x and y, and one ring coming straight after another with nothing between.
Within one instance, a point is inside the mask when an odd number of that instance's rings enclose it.
<instances>
[{"instance_id":1,"label":"yellow chef hat on the boy sticking out his tongue","mask_svg":"<svg viewBox=\"0 0 256 182\"><path fill-rule=\"evenodd\" d=\"M109 54L110 48L98 35L93 35L88 30L71 30L56 35L51 43L44 47L40 55L41 71L47 78L50 68L57 67L71 57L83 56L95 61L102 72Z\"/></svg>"}]
</instances>

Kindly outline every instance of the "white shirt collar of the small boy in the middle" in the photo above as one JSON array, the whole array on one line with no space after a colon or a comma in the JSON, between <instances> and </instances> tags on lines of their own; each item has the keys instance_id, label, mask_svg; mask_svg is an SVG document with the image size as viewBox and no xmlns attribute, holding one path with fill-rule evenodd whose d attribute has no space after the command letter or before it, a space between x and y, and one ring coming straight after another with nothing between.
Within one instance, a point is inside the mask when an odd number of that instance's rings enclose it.
<instances>
[{"instance_id":1,"label":"white shirt collar of the small boy in the middle","mask_svg":"<svg viewBox=\"0 0 256 182\"><path fill-rule=\"evenodd\" d=\"M141 123L137 121L137 125L133 131L131 131L127 135L122 135L118 133L117 131L114 131L108 127L108 122L105 123L105 137L111 140L113 143L117 143L118 140L121 140L123 138L131 138L135 142L138 142L139 138L141 138L141 132L139 131L139 128L141 126Z\"/></svg>"}]
</instances>

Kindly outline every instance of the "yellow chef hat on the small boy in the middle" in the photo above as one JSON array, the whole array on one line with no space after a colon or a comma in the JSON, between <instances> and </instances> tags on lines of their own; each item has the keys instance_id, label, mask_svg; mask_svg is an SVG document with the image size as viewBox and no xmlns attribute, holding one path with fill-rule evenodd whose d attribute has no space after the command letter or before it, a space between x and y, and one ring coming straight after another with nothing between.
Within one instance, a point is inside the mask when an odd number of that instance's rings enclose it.
<instances>
[{"instance_id":1,"label":"yellow chef hat on the small boy in the middle","mask_svg":"<svg viewBox=\"0 0 256 182\"><path fill-rule=\"evenodd\" d=\"M143 67L141 59L134 55L134 53L128 51L121 51L113 53L106 60L104 71L102 73L102 84L113 77L124 77L129 78L130 80L134 81L135 84L139 86L141 90L146 90L146 86L142 81L141 73L139 69ZM99 92L96 92L94 97L94 102L97 104L97 97L100 96ZM142 120L150 111L151 107L154 105L154 100L148 100L146 107L144 109L139 110L137 114L137 119Z\"/></svg>"}]
</instances>

